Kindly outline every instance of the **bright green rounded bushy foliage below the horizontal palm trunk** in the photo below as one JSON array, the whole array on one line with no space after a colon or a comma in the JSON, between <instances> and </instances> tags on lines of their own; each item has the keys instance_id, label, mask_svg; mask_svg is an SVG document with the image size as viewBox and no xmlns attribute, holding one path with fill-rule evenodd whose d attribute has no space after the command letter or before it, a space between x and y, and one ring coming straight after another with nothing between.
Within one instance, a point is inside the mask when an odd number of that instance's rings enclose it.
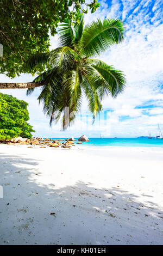
<instances>
[{"instance_id":1,"label":"bright green rounded bushy foliage below the horizontal palm trunk","mask_svg":"<svg viewBox=\"0 0 163 256\"><path fill-rule=\"evenodd\" d=\"M31 132L35 132L27 123L29 112L28 103L18 100L8 94L0 93L0 139L14 137L32 138Z\"/></svg>"}]
</instances>

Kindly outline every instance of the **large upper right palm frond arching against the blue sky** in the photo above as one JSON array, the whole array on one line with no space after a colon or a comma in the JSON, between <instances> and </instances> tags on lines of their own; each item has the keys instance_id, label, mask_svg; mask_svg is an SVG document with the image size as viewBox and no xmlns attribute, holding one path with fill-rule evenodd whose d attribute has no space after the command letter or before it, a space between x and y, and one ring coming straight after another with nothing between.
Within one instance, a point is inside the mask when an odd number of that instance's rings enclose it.
<instances>
[{"instance_id":1,"label":"large upper right palm frond arching against the blue sky","mask_svg":"<svg viewBox=\"0 0 163 256\"><path fill-rule=\"evenodd\" d=\"M80 40L82 56L97 56L111 45L124 39L124 26L121 20L104 19L93 21L86 26Z\"/></svg>"}]
</instances>

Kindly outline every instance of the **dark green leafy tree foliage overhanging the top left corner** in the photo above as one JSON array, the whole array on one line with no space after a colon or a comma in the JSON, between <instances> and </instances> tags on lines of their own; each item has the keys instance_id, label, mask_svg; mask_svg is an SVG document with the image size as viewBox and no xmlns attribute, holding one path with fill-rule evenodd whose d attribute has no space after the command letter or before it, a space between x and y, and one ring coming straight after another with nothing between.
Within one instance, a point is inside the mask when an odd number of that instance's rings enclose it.
<instances>
[{"instance_id":1,"label":"dark green leafy tree foliage overhanging the top left corner","mask_svg":"<svg viewBox=\"0 0 163 256\"><path fill-rule=\"evenodd\" d=\"M48 52L49 32L57 33L65 19L79 23L87 8L99 7L97 0L0 0L0 73L13 78L23 72L22 63L36 52ZM70 10L69 10L70 8ZM44 65L37 66L42 72Z\"/></svg>"}]
</instances>

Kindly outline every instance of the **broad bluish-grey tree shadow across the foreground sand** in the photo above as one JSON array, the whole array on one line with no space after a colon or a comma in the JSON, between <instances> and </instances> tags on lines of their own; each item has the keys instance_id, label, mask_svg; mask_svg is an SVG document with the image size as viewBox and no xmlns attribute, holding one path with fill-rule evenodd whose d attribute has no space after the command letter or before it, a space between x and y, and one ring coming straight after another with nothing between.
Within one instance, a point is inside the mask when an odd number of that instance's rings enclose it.
<instances>
[{"instance_id":1,"label":"broad bluish-grey tree shadow across the foreground sand","mask_svg":"<svg viewBox=\"0 0 163 256\"><path fill-rule=\"evenodd\" d=\"M162 243L163 211L152 200L141 203L129 191L83 181L55 188L55 180L45 185L35 178L42 176L40 160L0 156L2 245Z\"/></svg>"}]
</instances>

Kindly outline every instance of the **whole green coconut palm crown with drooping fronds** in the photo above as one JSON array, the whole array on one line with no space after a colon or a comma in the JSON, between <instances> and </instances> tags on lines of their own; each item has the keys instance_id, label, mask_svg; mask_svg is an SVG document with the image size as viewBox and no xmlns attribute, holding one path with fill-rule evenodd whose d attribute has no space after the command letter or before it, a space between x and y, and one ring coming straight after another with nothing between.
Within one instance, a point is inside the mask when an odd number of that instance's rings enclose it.
<instances>
[{"instance_id":1,"label":"whole green coconut palm crown with drooping fronds","mask_svg":"<svg viewBox=\"0 0 163 256\"><path fill-rule=\"evenodd\" d=\"M60 47L49 53L37 53L24 64L27 72L37 65L51 65L51 69L37 76L34 82L43 82L39 101L43 111L49 115L50 124L58 120L62 113L62 125L68 124L80 111L82 95L85 94L89 110L96 117L102 110L105 95L116 97L125 87L122 71L96 59L111 45L124 39L124 26L121 20L97 20L84 27L83 18L79 25L73 26L70 20L59 27ZM27 90L32 93L34 88ZM65 122L65 107L69 107L68 124Z\"/></svg>"}]
</instances>

